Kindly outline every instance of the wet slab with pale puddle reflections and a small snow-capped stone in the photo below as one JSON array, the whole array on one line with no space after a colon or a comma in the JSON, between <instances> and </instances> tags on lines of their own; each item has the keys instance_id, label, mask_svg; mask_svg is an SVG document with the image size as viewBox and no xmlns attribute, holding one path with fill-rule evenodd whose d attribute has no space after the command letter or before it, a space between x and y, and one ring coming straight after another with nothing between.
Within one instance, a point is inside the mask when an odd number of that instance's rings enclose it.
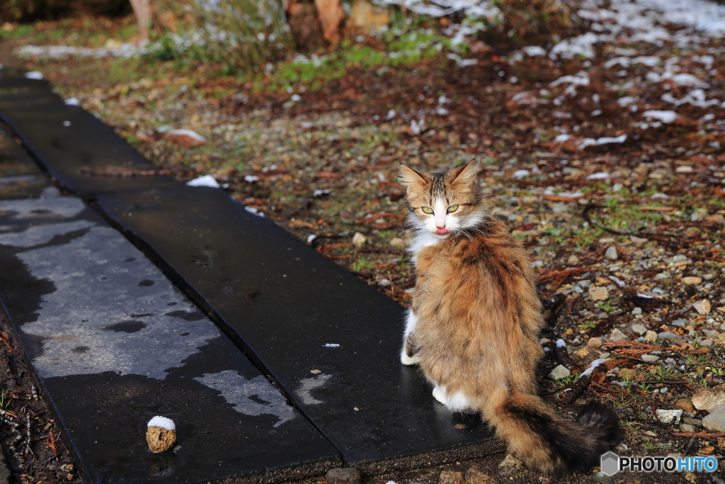
<instances>
[{"instance_id":1,"label":"wet slab with pale puddle reflections and a small snow-capped stone","mask_svg":"<svg viewBox=\"0 0 725 484\"><path fill-rule=\"evenodd\" d=\"M0 300L91 483L274 483L336 449L136 247L74 197L0 201ZM146 448L146 422L177 446Z\"/></svg>"}]
</instances>

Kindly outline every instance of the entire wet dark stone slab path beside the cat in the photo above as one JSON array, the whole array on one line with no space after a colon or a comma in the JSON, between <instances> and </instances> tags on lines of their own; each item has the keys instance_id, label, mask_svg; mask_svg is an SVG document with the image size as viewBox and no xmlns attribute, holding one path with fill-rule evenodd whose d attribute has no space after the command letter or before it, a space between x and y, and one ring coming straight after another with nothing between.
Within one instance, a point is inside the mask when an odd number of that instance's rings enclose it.
<instances>
[{"instance_id":1,"label":"entire wet dark stone slab path beside the cat","mask_svg":"<svg viewBox=\"0 0 725 484\"><path fill-rule=\"evenodd\" d=\"M0 119L165 274L47 182L7 196L44 198L0 202L0 263L14 268L0 298L92 481L283 480L500 450L478 417L448 414L399 364L392 300L220 189L84 174L154 167L42 81L0 70ZM7 167L28 157L1 140L4 197ZM178 452L144 451L154 412L178 416Z\"/></svg>"}]
</instances>

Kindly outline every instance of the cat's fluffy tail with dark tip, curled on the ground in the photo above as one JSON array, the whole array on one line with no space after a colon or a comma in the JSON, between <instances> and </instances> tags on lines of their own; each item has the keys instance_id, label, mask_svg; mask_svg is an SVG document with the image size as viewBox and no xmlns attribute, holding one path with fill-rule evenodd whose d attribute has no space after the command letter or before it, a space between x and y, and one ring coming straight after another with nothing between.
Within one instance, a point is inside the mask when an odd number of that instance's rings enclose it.
<instances>
[{"instance_id":1,"label":"cat's fluffy tail with dark tip, curled on the ground","mask_svg":"<svg viewBox=\"0 0 725 484\"><path fill-rule=\"evenodd\" d=\"M537 395L489 402L483 413L510 451L548 474L599 465L600 456L623 438L614 409L596 400L582 407L576 422L558 417Z\"/></svg>"}]
</instances>

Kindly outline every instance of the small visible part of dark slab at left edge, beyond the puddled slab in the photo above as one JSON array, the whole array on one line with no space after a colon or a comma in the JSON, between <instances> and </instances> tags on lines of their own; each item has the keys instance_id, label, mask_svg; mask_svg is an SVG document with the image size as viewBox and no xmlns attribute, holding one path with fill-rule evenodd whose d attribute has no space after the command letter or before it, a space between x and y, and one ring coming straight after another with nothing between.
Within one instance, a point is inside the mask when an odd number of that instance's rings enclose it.
<instances>
[{"instance_id":1,"label":"small visible part of dark slab at left edge, beyond the puddled slab","mask_svg":"<svg viewBox=\"0 0 725 484\"><path fill-rule=\"evenodd\" d=\"M28 153L0 127L0 200L39 197L52 186Z\"/></svg>"}]
</instances>

